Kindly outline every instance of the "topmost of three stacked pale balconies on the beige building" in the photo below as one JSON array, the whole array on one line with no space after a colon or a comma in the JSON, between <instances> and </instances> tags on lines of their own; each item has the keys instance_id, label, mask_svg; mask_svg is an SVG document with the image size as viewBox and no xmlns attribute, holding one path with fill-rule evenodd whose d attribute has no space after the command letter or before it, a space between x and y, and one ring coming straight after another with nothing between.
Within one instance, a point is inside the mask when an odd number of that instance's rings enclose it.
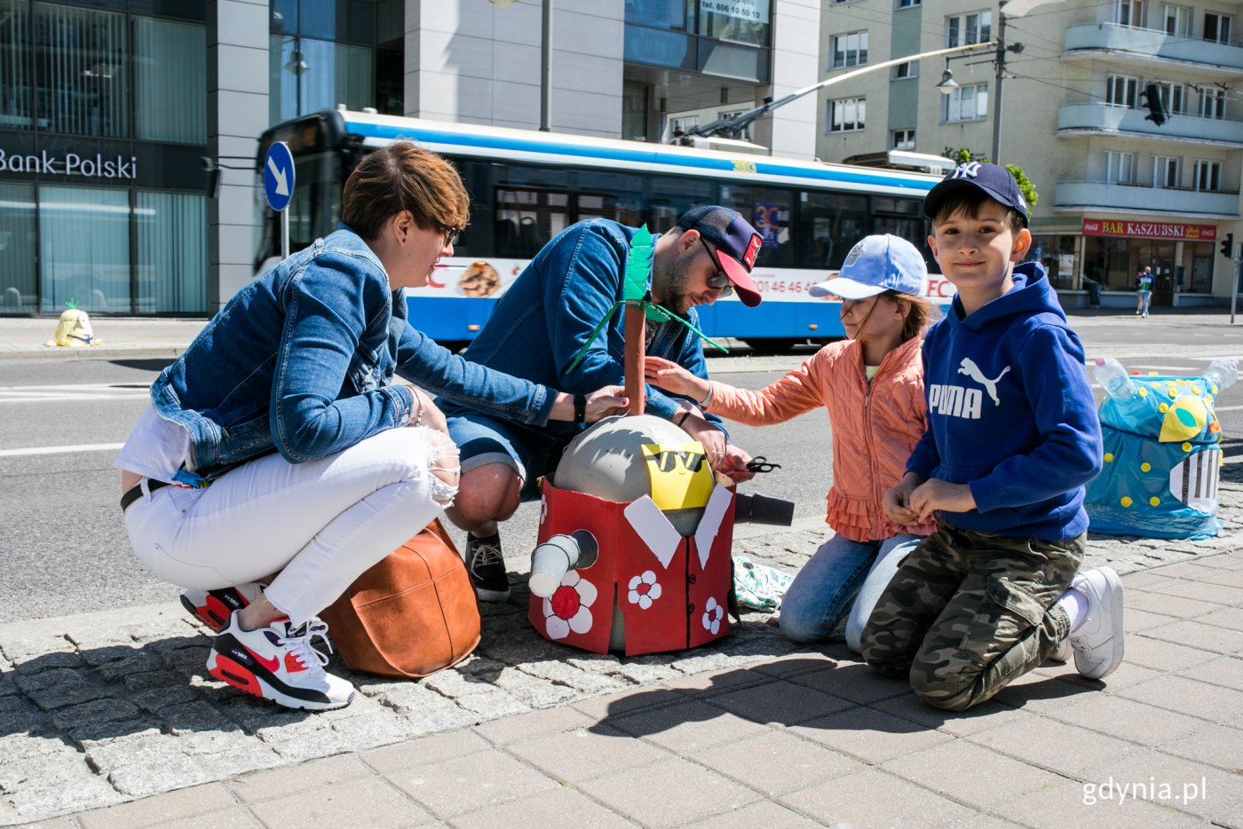
<instances>
[{"instance_id":1,"label":"topmost of three stacked pale balconies on the beige building","mask_svg":"<svg viewBox=\"0 0 1243 829\"><path fill-rule=\"evenodd\" d=\"M1206 78L1243 77L1243 46L1167 35L1158 29L1131 29L1117 24L1088 24L1066 30L1062 58L1095 60L1147 68L1178 63Z\"/></svg>"}]
</instances>

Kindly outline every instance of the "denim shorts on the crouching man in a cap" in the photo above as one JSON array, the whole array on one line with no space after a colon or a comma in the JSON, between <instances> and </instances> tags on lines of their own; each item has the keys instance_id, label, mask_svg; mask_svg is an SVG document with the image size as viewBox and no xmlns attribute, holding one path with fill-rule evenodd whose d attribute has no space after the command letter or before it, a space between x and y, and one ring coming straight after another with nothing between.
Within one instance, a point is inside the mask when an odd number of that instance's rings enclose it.
<instances>
[{"instance_id":1,"label":"denim shorts on the crouching man in a cap","mask_svg":"<svg viewBox=\"0 0 1243 829\"><path fill-rule=\"evenodd\" d=\"M486 464L505 464L522 479L523 501L539 497L539 479L552 475L571 437L549 435L512 420L476 411L445 411L449 436L457 444L462 474Z\"/></svg>"}]
</instances>

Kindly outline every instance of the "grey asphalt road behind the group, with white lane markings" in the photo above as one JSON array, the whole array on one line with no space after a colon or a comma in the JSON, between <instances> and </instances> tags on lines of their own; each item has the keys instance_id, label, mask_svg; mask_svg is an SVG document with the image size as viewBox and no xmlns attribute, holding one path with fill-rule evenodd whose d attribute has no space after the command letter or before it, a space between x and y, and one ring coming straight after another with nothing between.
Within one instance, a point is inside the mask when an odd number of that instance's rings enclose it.
<instances>
[{"instance_id":1,"label":"grey asphalt road behind the group, with white lane markings","mask_svg":"<svg viewBox=\"0 0 1243 829\"><path fill-rule=\"evenodd\" d=\"M1221 319L1217 317L1216 319ZM1199 374L1213 357L1243 357L1243 323L1196 316L1073 318L1089 359L1116 357L1127 369ZM713 358L716 379L761 388L812 349L782 357ZM0 360L0 623L167 602L178 590L153 579L129 551L112 469L147 403L147 385L168 360ZM1243 462L1243 383L1218 399L1227 462ZM823 515L829 429L823 411L767 429L732 426L735 442L782 469L746 485L796 502L796 516ZM68 449L78 447L78 449ZM32 454L30 450L48 449ZM507 553L530 548L536 505L503 528Z\"/></svg>"}]
</instances>

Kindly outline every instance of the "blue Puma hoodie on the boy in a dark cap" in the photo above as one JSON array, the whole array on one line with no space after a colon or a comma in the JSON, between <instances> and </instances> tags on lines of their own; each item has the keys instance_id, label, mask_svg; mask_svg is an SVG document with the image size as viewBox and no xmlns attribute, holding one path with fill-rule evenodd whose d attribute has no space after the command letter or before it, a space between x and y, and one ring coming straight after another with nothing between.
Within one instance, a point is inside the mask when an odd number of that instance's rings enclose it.
<instances>
[{"instance_id":1,"label":"blue Puma hoodie on the boy in a dark cap","mask_svg":"<svg viewBox=\"0 0 1243 829\"><path fill-rule=\"evenodd\" d=\"M946 512L961 529L1047 541L1088 528L1084 485L1101 466L1100 421L1079 337L1038 262L1014 287L924 341L927 429L906 470L970 483L976 508Z\"/></svg>"}]
</instances>

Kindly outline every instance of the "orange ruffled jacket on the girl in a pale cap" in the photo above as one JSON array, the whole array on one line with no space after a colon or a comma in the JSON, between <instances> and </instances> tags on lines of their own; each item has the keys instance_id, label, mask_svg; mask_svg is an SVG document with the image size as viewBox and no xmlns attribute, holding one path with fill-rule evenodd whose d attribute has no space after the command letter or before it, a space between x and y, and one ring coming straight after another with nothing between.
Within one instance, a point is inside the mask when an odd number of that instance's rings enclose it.
<instances>
[{"instance_id":1,"label":"orange ruffled jacket on the girl in a pale cap","mask_svg":"<svg viewBox=\"0 0 1243 829\"><path fill-rule=\"evenodd\" d=\"M825 522L850 541L929 536L936 522L901 527L880 506L885 491L906 474L906 459L924 434L922 342L915 337L885 354L870 388L863 373L863 346L842 341L758 392L713 382L710 411L748 426L767 426L824 406L833 426Z\"/></svg>"}]
</instances>

